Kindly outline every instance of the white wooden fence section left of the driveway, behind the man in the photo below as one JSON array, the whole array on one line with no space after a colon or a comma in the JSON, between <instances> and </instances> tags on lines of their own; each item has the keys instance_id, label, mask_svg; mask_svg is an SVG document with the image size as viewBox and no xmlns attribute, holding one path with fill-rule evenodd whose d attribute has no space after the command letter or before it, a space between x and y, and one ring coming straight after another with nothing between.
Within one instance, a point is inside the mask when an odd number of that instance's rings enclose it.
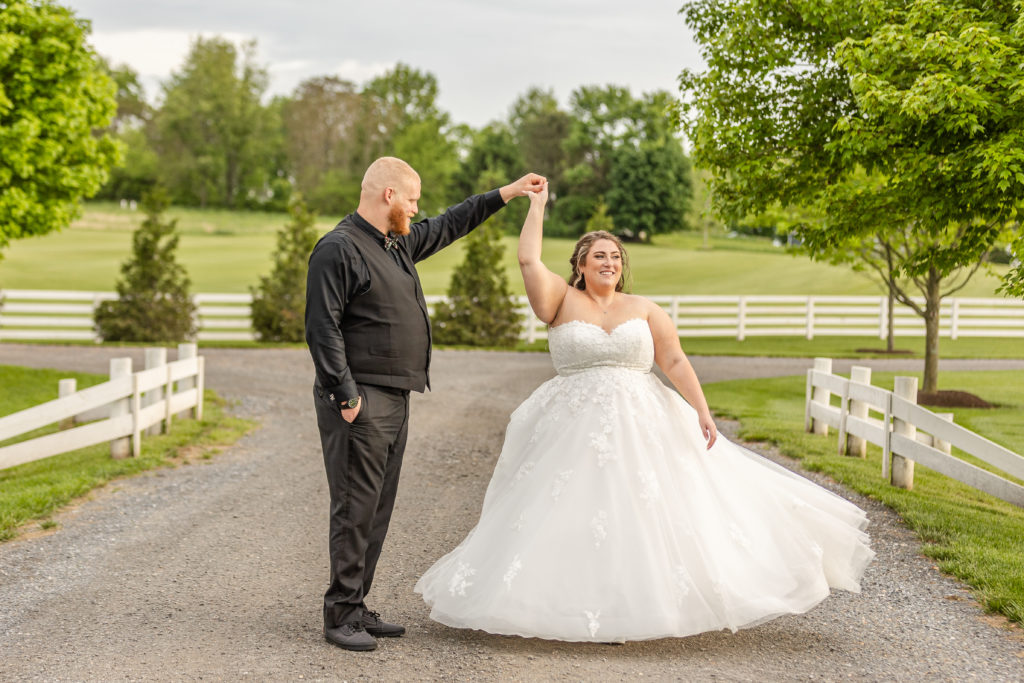
<instances>
[{"instance_id":1,"label":"white wooden fence section left of the driveway, behind the man","mask_svg":"<svg viewBox=\"0 0 1024 683\"><path fill-rule=\"evenodd\" d=\"M75 380L60 380L58 398L0 418L0 443L53 423L62 428L0 447L0 469L104 441L112 457L137 458L142 434L156 433L160 423L166 432L182 412L202 420L205 359L196 344L179 345L174 362L166 358L166 349L147 348L147 368L135 373L131 358L112 358L110 381L75 391Z\"/></svg>"}]
</instances>

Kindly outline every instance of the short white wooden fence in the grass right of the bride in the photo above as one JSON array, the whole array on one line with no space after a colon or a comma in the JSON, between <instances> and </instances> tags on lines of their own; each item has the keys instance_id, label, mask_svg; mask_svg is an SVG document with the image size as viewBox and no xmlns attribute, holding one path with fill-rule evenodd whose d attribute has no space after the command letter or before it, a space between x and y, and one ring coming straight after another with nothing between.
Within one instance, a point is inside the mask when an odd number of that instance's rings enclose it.
<instances>
[{"instance_id":1,"label":"short white wooden fence in the grass right of the bride","mask_svg":"<svg viewBox=\"0 0 1024 683\"><path fill-rule=\"evenodd\" d=\"M864 455L865 443L882 449L882 476L894 486L913 487L921 463L998 499L1024 507L1024 486L951 455L953 446L1019 479L1024 457L959 425L951 414L918 404L918 378L897 377L893 391L870 384L870 369L854 366L851 378L831 374L830 358L815 358L807 371L805 428L839 430L840 455ZM831 396L840 399L831 404ZM870 413L881 417L872 418ZM927 433L922 433L927 432Z\"/></svg>"}]
</instances>

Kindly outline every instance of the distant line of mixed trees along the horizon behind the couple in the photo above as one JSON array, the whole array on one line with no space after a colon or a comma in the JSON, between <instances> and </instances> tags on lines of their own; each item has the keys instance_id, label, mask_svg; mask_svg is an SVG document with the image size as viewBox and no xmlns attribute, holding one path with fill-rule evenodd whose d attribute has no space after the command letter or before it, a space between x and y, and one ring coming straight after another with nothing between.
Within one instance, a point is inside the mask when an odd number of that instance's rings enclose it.
<instances>
[{"instance_id":1,"label":"distant line of mixed trees along the horizon behind the couple","mask_svg":"<svg viewBox=\"0 0 1024 683\"><path fill-rule=\"evenodd\" d=\"M626 236L689 227L691 170L667 91L581 87L563 110L552 92L530 89L506 120L474 130L438 109L432 74L402 63L361 86L318 76L266 100L254 42L197 38L158 104L130 67L106 71L123 158L101 198L138 200L161 185L176 205L282 211L299 193L311 210L337 215L357 204L367 166L393 155L423 178L427 213L485 175L532 170L551 180L549 233L578 234L595 214Z\"/></svg>"}]
</instances>

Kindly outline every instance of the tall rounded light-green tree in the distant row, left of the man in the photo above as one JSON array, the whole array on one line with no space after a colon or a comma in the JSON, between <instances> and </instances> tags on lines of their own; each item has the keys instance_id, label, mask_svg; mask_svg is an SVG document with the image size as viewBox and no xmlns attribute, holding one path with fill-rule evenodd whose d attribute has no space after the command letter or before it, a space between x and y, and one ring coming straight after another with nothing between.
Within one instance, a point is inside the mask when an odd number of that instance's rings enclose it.
<instances>
[{"instance_id":1,"label":"tall rounded light-green tree in the distant row, left of the man","mask_svg":"<svg viewBox=\"0 0 1024 683\"><path fill-rule=\"evenodd\" d=\"M197 38L164 85L156 117L161 180L175 202L237 208L259 204L269 181L272 121L260 102L266 70L256 44Z\"/></svg>"}]
</instances>

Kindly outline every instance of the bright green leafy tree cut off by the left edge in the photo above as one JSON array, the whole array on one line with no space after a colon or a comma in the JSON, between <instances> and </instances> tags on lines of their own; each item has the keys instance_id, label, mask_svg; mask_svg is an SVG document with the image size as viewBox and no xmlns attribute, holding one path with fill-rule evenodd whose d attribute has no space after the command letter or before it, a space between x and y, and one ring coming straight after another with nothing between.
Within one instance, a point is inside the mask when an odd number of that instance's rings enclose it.
<instances>
[{"instance_id":1,"label":"bright green leafy tree cut off by the left edge","mask_svg":"<svg viewBox=\"0 0 1024 683\"><path fill-rule=\"evenodd\" d=\"M117 162L117 144L100 132L115 87L88 33L50 2L0 5L0 250L71 223Z\"/></svg>"}]
</instances>

